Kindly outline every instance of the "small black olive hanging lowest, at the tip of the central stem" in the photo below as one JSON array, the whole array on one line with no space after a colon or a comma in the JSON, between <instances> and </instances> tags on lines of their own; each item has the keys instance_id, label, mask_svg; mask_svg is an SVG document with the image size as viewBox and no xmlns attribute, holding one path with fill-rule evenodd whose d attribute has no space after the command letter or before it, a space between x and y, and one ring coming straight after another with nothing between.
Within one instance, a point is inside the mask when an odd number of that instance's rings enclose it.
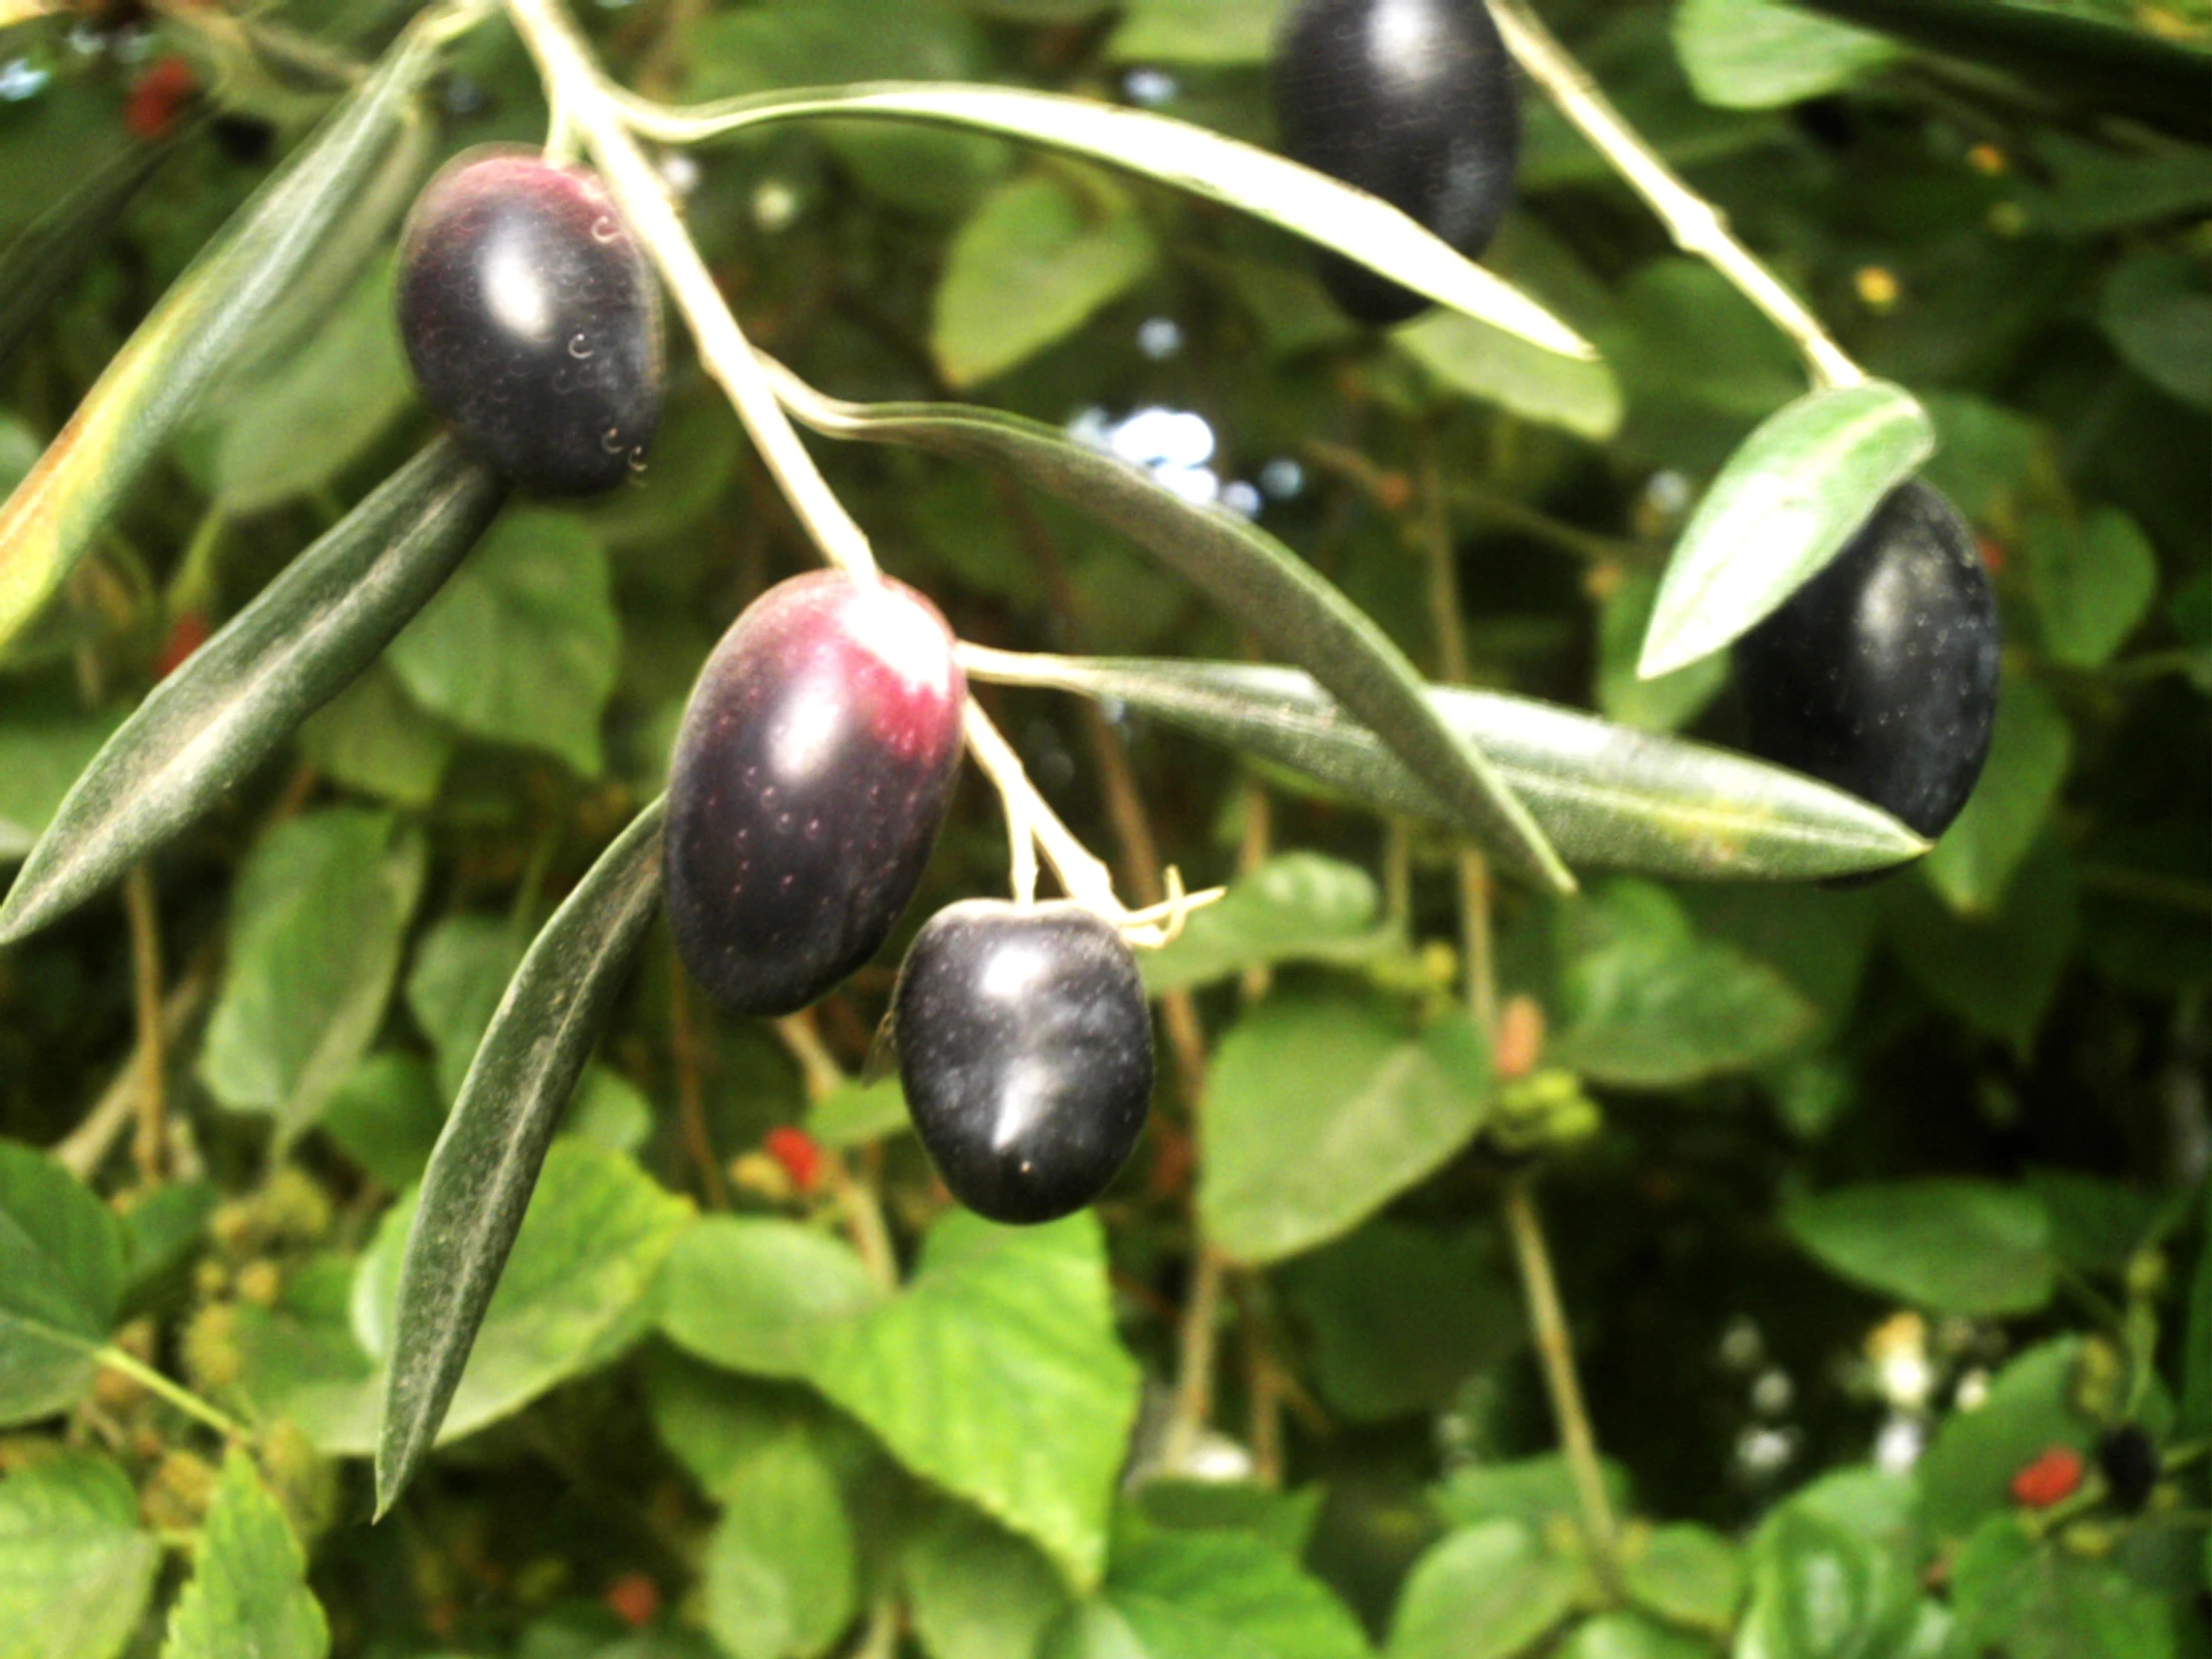
<instances>
[{"instance_id":1,"label":"small black olive hanging lowest, at the tip of the central stem","mask_svg":"<svg viewBox=\"0 0 2212 1659\"><path fill-rule=\"evenodd\" d=\"M1152 1018L1121 936L1082 905L971 898L931 916L891 993L914 1128L967 1208L1082 1210L1152 1102Z\"/></svg>"}]
</instances>

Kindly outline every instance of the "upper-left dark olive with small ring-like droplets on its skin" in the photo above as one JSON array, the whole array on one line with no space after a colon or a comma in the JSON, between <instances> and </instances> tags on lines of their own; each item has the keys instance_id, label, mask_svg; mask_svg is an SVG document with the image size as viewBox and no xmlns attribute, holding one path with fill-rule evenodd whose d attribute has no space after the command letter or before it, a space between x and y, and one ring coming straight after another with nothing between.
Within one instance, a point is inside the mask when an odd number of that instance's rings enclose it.
<instances>
[{"instance_id":1,"label":"upper-left dark olive with small ring-like droplets on its skin","mask_svg":"<svg viewBox=\"0 0 2212 1659\"><path fill-rule=\"evenodd\" d=\"M487 467L595 495L644 467L661 420L661 301L591 173L471 153L400 239L400 338L422 396Z\"/></svg>"}]
</instances>

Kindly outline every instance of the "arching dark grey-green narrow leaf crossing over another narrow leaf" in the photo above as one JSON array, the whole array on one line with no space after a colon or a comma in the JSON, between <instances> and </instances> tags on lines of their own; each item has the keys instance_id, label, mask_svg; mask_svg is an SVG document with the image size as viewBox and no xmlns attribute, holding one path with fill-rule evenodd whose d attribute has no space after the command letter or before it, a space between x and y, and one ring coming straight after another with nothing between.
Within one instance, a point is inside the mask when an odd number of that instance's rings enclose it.
<instances>
[{"instance_id":1,"label":"arching dark grey-green narrow leaf crossing over another narrow leaf","mask_svg":"<svg viewBox=\"0 0 2212 1659\"><path fill-rule=\"evenodd\" d=\"M779 389L792 414L832 438L995 465L1113 524L1270 650L1312 670L1422 779L1442 803L1444 823L1475 836L1506 872L1553 891L1575 889L1513 787L1427 703L1420 672L1405 653L1327 577L1256 524L1186 502L1124 460L1020 416L958 403L838 403L787 374L779 374Z\"/></svg>"}]
</instances>

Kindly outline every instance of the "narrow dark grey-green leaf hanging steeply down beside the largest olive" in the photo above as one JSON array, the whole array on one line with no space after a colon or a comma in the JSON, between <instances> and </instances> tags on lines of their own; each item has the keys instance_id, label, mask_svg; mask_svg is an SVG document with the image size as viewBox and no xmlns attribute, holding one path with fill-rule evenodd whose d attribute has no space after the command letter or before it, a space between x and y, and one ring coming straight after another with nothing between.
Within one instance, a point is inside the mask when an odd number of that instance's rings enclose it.
<instances>
[{"instance_id":1,"label":"narrow dark grey-green leaf hanging steeply down beside the largest olive","mask_svg":"<svg viewBox=\"0 0 2212 1659\"><path fill-rule=\"evenodd\" d=\"M378 1515L438 1438L562 1106L659 905L661 814L661 801L639 812L538 933L431 1152L400 1261Z\"/></svg>"}]
</instances>

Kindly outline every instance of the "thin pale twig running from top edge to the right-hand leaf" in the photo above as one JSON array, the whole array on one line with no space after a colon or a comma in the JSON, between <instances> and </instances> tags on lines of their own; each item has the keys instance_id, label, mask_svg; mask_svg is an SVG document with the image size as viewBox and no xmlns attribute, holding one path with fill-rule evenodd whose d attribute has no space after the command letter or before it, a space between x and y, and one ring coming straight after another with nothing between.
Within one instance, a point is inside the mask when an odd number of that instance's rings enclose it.
<instances>
[{"instance_id":1,"label":"thin pale twig running from top edge to the right-hand leaf","mask_svg":"<svg viewBox=\"0 0 2212 1659\"><path fill-rule=\"evenodd\" d=\"M1520 66L1528 71L1528 80L1544 88L1559 113L1650 204L1668 234L1674 237L1674 246L1710 263L1796 343L1798 352L1805 354L1814 385L1843 387L1867 378L1827 336L1805 301L1783 288L1781 279L1736 241L1721 210L1683 184L1659 159L1659 153L1621 119L1588 71L1568 55L1566 46L1524 0L1491 0L1491 15L1498 18L1498 33L1504 35Z\"/></svg>"}]
</instances>

